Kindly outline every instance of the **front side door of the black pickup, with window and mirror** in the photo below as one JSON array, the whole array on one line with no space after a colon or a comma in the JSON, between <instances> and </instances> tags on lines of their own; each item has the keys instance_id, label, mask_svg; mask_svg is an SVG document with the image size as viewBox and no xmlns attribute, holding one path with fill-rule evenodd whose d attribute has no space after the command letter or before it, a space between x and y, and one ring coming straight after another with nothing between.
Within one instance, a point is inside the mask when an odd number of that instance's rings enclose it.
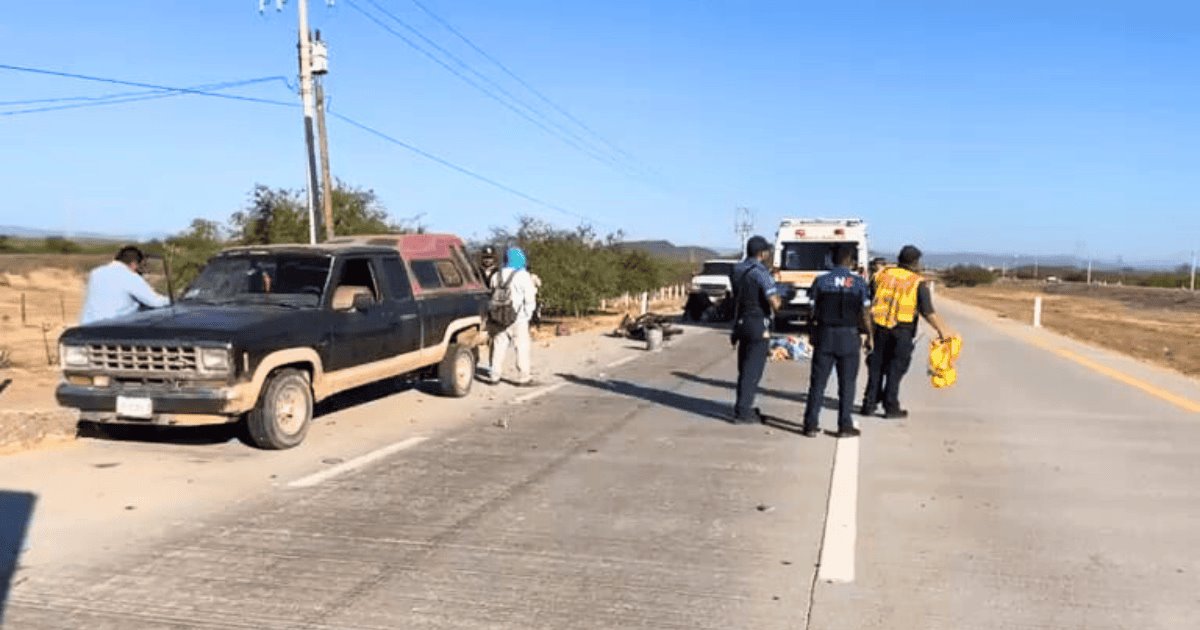
<instances>
[{"instance_id":1,"label":"front side door of the black pickup, with window and mirror","mask_svg":"<svg viewBox=\"0 0 1200 630\"><path fill-rule=\"evenodd\" d=\"M329 308L329 348L325 370L329 372L356 367L390 356L388 343L392 330L394 311L383 300L378 262L368 257L342 259L334 270ZM348 296L355 292L368 293L370 307L349 308Z\"/></svg>"}]
</instances>

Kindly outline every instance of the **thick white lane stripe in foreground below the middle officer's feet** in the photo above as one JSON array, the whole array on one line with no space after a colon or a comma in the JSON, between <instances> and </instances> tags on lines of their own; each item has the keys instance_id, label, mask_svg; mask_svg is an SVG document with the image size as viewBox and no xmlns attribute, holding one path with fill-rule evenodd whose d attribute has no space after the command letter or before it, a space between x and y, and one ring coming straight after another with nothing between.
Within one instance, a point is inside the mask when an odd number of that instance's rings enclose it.
<instances>
[{"instance_id":1,"label":"thick white lane stripe in foreground below the middle officer's feet","mask_svg":"<svg viewBox=\"0 0 1200 630\"><path fill-rule=\"evenodd\" d=\"M822 582L854 581L854 545L858 539L858 438L838 440L829 480L824 542L821 545Z\"/></svg>"}]
</instances>

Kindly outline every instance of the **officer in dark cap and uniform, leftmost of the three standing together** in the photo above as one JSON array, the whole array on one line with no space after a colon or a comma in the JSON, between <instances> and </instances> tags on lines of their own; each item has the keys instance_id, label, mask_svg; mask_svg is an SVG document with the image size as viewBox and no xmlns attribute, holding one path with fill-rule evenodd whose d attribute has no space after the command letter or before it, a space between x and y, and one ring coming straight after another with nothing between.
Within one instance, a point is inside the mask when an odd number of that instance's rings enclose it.
<instances>
[{"instance_id":1,"label":"officer in dark cap and uniform, leftmost of the three standing together","mask_svg":"<svg viewBox=\"0 0 1200 630\"><path fill-rule=\"evenodd\" d=\"M773 247L762 236L746 241L746 258L733 268L733 334L738 348L738 394L733 403L733 424L762 422L754 406L758 382L767 367L770 349L770 322L782 305L775 281L767 269Z\"/></svg>"}]
</instances>

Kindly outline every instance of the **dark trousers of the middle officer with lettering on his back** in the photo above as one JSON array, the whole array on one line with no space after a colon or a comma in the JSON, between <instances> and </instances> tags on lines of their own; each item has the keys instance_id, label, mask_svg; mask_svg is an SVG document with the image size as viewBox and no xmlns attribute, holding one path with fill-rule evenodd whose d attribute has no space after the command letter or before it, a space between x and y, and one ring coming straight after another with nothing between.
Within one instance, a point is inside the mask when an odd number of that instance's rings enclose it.
<instances>
[{"instance_id":1,"label":"dark trousers of the middle officer with lettering on his back","mask_svg":"<svg viewBox=\"0 0 1200 630\"><path fill-rule=\"evenodd\" d=\"M804 428L816 431L821 426L821 408L829 376L838 370L838 430L854 427L851 416L854 408L854 384L858 380L858 362L862 348L858 328L832 328L816 330L812 335L812 366L809 371L809 396L804 407Z\"/></svg>"}]
</instances>

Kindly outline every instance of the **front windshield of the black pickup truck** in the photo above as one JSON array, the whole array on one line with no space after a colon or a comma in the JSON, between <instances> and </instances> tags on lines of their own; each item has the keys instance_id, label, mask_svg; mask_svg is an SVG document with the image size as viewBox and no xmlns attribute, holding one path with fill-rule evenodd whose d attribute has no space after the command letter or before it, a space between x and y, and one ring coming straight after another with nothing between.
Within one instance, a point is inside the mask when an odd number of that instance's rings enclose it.
<instances>
[{"instance_id":1,"label":"front windshield of the black pickup truck","mask_svg":"<svg viewBox=\"0 0 1200 630\"><path fill-rule=\"evenodd\" d=\"M302 254L214 258L180 301L203 304L320 305L330 259Z\"/></svg>"}]
</instances>

